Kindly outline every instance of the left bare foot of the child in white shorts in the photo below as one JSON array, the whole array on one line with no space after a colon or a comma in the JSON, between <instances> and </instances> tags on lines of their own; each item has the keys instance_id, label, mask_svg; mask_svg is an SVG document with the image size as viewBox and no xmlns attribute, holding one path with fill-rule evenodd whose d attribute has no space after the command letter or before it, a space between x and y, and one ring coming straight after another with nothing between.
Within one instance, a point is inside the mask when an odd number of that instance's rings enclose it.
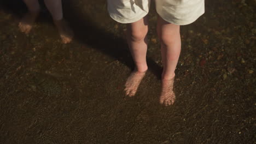
<instances>
[{"instance_id":1,"label":"left bare foot of the child in white shorts","mask_svg":"<svg viewBox=\"0 0 256 144\"><path fill-rule=\"evenodd\" d=\"M139 72L137 70L134 70L131 73L131 75L128 77L125 83L124 90L126 92L126 95L128 95L129 97L132 97L135 95L135 93L137 92L139 83L141 83L141 80L143 79L145 74L146 74L146 71Z\"/></svg>"}]
</instances>

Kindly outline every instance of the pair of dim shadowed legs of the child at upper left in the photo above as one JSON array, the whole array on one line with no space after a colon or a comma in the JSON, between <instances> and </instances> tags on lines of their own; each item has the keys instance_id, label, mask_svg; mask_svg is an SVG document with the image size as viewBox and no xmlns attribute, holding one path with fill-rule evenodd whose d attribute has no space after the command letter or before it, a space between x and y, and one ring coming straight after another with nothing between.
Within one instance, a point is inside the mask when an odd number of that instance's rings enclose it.
<instances>
[{"instance_id":1,"label":"pair of dim shadowed legs of the child at upper left","mask_svg":"<svg viewBox=\"0 0 256 144\"><path fill-rule=\"evenodd\" d=\"M36 21L39 15L40 5L38 0L23 0L28 8L28 13L22 18L19 23L21 32L28 34L31 31L34 21ZM53 21L57 27L62 43L69 43L72 40L73 32L67 25L67 22L63 19L62 3L61 0L44 0L44 3L53 16Z\"/></svg>"}]
</instances>

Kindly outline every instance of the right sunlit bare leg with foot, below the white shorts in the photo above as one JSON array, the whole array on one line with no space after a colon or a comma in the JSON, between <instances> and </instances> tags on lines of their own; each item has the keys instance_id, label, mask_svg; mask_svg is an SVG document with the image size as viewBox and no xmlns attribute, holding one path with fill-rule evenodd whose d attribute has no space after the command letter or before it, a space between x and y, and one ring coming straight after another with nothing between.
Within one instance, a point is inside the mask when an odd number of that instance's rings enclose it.
<instances>
[{"instance_id":1,"label":"right sunlit bare leg with foot, below the white shorts","mask_svg":"<svg viewBox=\"0 0 256 144\"><path fill-rule=\"evenodd\" d=\"M174 103L175 94L173 92L174 71L181 52L181 35L179 26L173 25L158 18L158 35L161 40L162 64L162 92L160 103L171 105Z\"/></svg>"}]
</instances>

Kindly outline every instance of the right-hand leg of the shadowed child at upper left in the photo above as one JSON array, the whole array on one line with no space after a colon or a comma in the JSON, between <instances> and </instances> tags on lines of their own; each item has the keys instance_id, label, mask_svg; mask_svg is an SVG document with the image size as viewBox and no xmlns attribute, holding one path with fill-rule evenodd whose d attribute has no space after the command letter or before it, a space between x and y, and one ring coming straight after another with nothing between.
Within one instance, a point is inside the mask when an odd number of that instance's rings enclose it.
<instances>
[{"instance_id":1,"label":"right-hand leg of the shadowed child at upper left","mask_svg":"<svg viewBox=\"0 0 256 144\"><path fill-rule=\"evenodd\" d=\"M62 42L65 44L69 43L72 40L73 32L67 25L67 22L63 20L61 0L44 0L44 3L51 16L53 16L54 24L60 33Z\"/></svg>"}]
</instances>

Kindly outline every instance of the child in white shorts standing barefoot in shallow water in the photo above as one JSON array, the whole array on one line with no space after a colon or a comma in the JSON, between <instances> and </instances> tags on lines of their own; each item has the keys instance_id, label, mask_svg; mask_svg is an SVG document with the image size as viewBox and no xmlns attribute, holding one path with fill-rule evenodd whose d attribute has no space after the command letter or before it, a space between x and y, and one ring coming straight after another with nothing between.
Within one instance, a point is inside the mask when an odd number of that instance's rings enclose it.
<instances>
[{"instance_id":1,"label":"child in white shorts standing barefoot in shallow water","mask_svg":"<svg viewBox=\"0 0 256 144\"><path fill-rule=\"evenodd\" d=\"M135 95L148 66L147 32L150 3L154 1L158 13L157 33L161 43L162 89L160 103L172 105L175 100L173 83L175 69L181 52L179 27L188 25L205 13L204 0L107 0L108 13L113 20L126 23L127 41L135 70L125 84L126 94Z\"/></svg>"}]
</instances>

